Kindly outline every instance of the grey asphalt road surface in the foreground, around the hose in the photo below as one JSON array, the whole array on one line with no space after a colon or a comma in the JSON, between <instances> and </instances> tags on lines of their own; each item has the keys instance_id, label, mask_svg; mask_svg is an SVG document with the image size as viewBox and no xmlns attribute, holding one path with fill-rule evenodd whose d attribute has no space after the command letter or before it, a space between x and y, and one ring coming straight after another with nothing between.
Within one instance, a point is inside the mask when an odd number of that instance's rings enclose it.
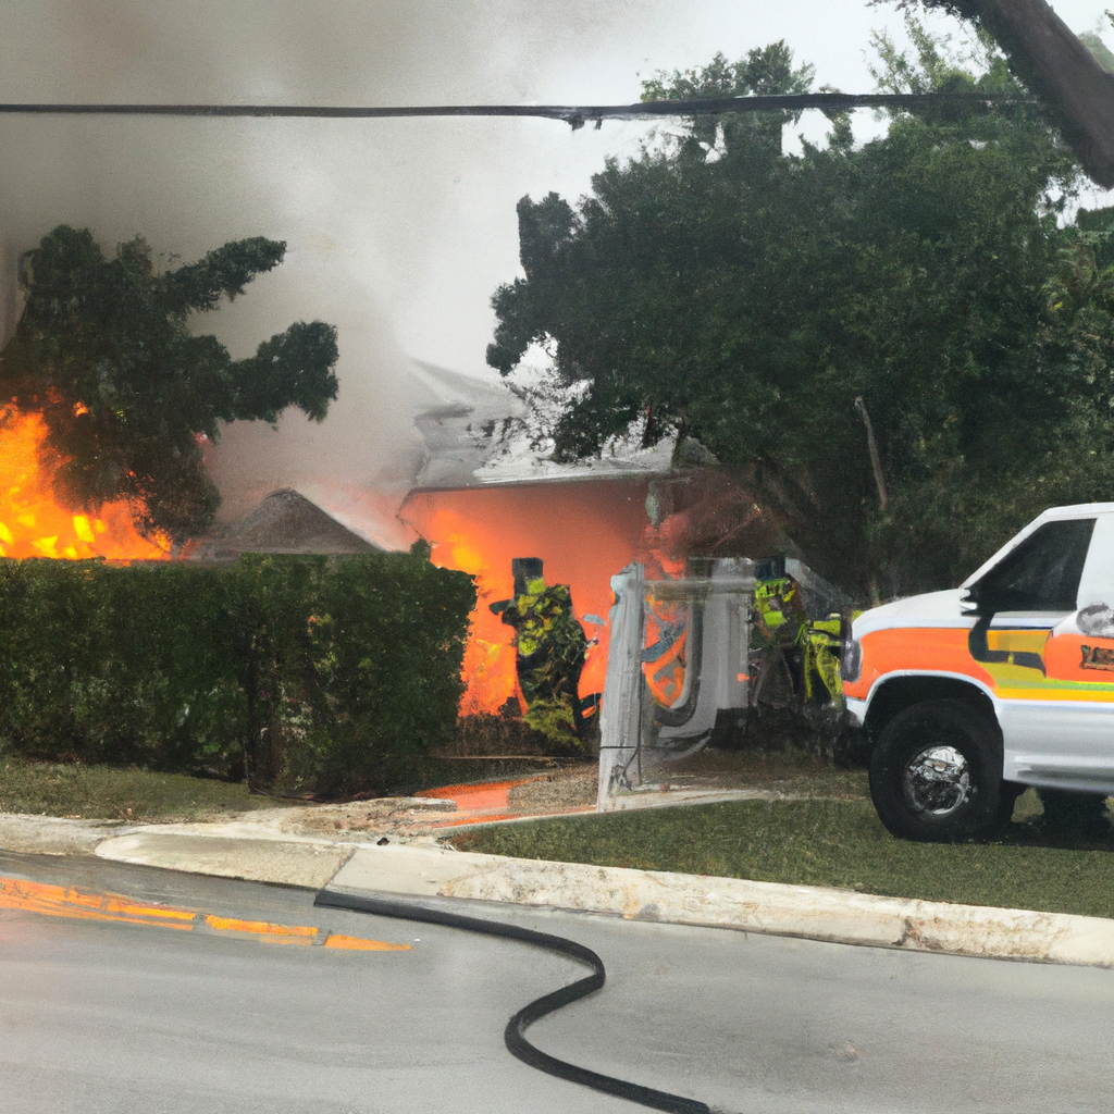
<instances>
[{"instance_id":1,"label":"grey asphalt road surface in the foreground, around the hose","mask_svg":"<svg viewBox=\"0 0 1114 1114\"><path fill-rule=\"evenodd\" d=\"M643 1108L504 1048L511 1014L584 974L568 959L317 909L303 890L96 859L0 856L0 874L411 945L281 947L0 908L6 1112ZM739 1114L1111 1107L1114 971L496 916L603 957L600 994L529 1029L546 1052L596 1071Z\"/></svg>"}]
</instances>

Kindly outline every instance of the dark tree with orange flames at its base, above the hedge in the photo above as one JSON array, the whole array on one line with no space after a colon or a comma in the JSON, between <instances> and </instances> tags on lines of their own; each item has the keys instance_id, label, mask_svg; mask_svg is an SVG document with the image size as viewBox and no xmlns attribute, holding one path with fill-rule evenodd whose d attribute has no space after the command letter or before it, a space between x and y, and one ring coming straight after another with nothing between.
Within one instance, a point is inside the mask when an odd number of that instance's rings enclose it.
<instances>
[{"instance_id":1,"label":"dark tree with orange flames at its base, above the hedge","mask_svg":"<svg viewBox=\"0 0 1114 1114\"><path fill-rule=\"evenodd\" d=\"M88 228L59 225L22 257L27 301L0 353L0 391L43 414L60 501L96 510L124 499L140 530L182 541L219 505L199 436L216 440L234 420L274 423L291 405L324 418L338 390L332 325L296 322L244 360L189 329L285 250L256 236L162 270L141 237L108 258Z\"/></svg>"}]
</instances>

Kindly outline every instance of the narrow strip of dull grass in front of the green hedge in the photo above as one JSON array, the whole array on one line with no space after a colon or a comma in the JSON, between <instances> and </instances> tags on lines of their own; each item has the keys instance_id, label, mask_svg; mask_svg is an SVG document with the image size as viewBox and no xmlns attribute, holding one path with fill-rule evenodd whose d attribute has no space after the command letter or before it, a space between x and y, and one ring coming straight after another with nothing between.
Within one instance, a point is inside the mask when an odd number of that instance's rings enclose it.
<instances>
[{"instance_id":1,"label":"narrow strip of dull grass in front of the green hedge","mask_svg":"<svg viewBox=\"0 0 1114 1114\"><path fill-rule=\"evenodd\" d=\"M0 812L75 820L199 820L283 803L209 778L0 759Z\"/></svg>"}]
</instances>

